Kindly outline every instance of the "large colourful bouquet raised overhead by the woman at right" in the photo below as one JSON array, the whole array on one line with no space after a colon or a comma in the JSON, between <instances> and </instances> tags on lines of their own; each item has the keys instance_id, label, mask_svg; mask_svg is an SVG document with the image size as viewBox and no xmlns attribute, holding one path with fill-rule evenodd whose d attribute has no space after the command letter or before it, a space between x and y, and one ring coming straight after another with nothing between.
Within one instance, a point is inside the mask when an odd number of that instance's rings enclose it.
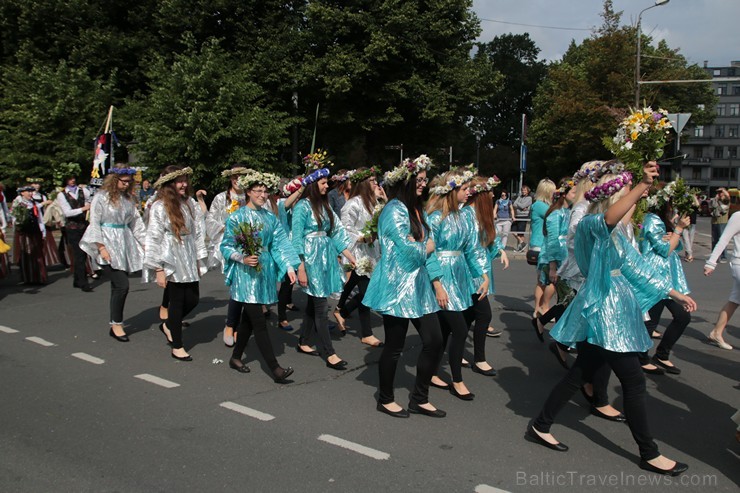
<instances>
[{"instance_id":1,"label":"large colourful bouquet raised overhead by the woman at right","mask_svg":"<svg viewBox=\"0 0 740 493\"><path fill-rule=\"evenodd\" d=\"M648 161L663 156L666 137L673 128L664 109L653 111L649 106L632 110L617 128L617 134L604 137L604 146L626 165L635 181L642 180L642 168Z\"/></svg>"}]
</instances>

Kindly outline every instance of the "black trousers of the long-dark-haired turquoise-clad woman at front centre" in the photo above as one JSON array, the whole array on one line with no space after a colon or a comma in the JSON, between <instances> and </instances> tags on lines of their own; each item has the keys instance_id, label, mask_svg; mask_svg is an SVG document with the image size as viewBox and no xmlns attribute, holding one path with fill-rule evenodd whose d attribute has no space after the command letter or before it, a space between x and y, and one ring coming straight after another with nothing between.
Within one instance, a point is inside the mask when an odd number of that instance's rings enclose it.
<instances>
[{"instance_id":1,"label":"black trousers of the long-dark-haired turquoise-clad woman at front centre","mask_svg":"<svg viewBox=\"0 0 740 493\"><path fill-rule=\"evenodd\" d=\"M399 318L383 315L385 346L378 361L379 398L381 404L395 401L393 382L396 378L398 359L406 342L406 332L411 322L421 337L422 348L416 362L416 383L411 392L411 401L416 404L429 402L429 382L439 366L439 355L442 352L442 332L439 319L435 313L428 313L421 318Z\"/></svg>"}]
</instances>

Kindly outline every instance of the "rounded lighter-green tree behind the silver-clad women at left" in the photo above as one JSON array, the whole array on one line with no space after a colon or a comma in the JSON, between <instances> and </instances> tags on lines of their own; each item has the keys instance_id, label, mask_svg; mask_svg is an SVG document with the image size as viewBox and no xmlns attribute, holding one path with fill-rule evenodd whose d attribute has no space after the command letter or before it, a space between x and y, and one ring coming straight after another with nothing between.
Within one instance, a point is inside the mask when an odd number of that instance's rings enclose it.
<instances>
[{"instance_id":1,"label":"rounded lighter-green tree behind the silver-clad women at left","mask_svg":"<svg viewBox=\"0 0 740 493\"><path fill-rule=\"evenodd\" d=\"M137 160L154 170L190 166L205 185L237 162L274 169L291 118L272 108L250 66L217 41L188 42L191 49L171 64L155 59L149 94L127 102L122 125Z\"/></svg>"}]
</instances>

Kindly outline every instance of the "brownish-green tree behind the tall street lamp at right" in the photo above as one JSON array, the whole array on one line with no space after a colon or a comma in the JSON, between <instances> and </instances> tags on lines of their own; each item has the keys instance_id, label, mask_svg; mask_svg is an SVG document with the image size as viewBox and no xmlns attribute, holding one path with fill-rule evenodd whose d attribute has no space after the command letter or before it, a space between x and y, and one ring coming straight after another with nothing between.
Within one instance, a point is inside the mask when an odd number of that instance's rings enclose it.
<instances>
[{"instance_id":1,"label":"brownish-green tree behind the tall street lamp at right","mask_svg":"<svg viewBox=\"0 0 740 493\"><path fill-rule=\"evenodd\" d=\"M571 43L553 63L534 98L530 127L530 162L536 174L560 178L581 163L608 159L601 144L616 131L618 122L634 104L635 36L632 26L621 26L621 12L604 2L602 26L581 44ZM657 46L643 34L644 79L706 79L696 65L688 65L678 49L665 42ZM709 84L651 85L642 97L654 108L693 113L697 123L711 121L715 96ZM701 110L704 105L707 110Z\"/></svg>"}]
</instances>

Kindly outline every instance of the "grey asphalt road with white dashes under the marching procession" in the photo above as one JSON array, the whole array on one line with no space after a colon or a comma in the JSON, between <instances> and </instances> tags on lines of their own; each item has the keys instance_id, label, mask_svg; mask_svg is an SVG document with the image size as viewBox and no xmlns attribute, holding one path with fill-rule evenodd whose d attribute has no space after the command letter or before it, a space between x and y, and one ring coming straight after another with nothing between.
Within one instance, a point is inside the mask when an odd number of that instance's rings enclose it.
<instances>
[{"instance_id":1,"label":"grey asphalt road with white dashes under the marching procession","mask_svg":"<svg viewBox=\"0 0 740 493\"><path fill-rule=\"evenodd\" d=\"M697 261L684 264L699 311L672 358L683 373L648 377L653 434L661 452L690 465L682 478L640 470L628 428L589 415L580 396L553 427L568 453L524 439L563 370L532 333L534 272L517 256L495 272L494 325L504 335L489 338L487 352L499 375L464 370L473 402L433 388L431 401L448 412L442 420L375 410L380 353L360 344L356 317L350 334L335 339L349 362L336 372L296 353L297 335L277 329L273 315L278 360L296 370L291 383L278 385L254 343L250 374L226 365L228 292L217 273L203 278L185 330L195 361L181 363L157 330L156 286L132 278L131 342L121 344L107 335L105 279L88 294L73 289L66 272L29 288L17 284L15 271L0 280L0 491L737 491L740 444L730 417L740 408L740 350L706 344L731 287L726 266L702 276L706 233L702 218ZM294 299L303 306L298 291ZM300 316L290 312L295 327ZM726 340L740 347L736 324ZM409 334L396 383L402 404L420 348ZM616 407L620 394L613 379Z\"/></svg>"}]
</instances>

